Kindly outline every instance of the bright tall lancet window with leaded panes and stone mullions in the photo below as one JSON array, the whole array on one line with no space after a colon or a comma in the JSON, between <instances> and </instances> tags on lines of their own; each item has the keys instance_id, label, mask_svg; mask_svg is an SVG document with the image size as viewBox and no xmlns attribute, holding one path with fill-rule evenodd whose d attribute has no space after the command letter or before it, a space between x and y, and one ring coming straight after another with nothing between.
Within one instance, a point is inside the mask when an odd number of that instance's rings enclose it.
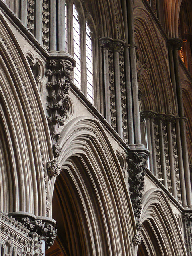
<instances>
[{"instance_id":1,"label":"bright tall lancet window with leaded panes and stone mullions","mask_svg":"<svg viewBox=\"0 0 192 256\"><path fill-rule=\"evenodd\" d=\"M82 8L70 2L66 4L66 51L76 60L74 84L94 103L92 33Z\"/></svg>"}]
</instances>

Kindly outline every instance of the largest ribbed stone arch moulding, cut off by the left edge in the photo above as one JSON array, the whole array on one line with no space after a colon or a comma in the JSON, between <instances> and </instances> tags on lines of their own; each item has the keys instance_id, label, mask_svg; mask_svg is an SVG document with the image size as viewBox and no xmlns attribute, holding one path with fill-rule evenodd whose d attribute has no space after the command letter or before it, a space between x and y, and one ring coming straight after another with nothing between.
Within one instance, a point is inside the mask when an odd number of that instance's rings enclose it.
<instances>
[{"instance_id":1,"label":"largest ribbed stone arch moulding, cut off by the left edge","mask_svg":"<svg viewBox=\"0 0 192 256\"><path fill-rule=\"evenodd\" d=\"M30 66L0 13L0 210L46 216L48 124Z\"/></svg>"}]
</instances>

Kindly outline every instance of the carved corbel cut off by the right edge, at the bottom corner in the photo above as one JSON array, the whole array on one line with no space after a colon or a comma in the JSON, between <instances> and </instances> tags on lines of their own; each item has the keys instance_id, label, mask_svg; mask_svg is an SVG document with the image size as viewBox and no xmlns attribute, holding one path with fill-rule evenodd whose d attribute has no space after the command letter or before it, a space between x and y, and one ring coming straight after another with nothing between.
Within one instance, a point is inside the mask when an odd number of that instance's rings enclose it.
<instances>
[{"instance_id":1,"label":"carved corbel cut off by the right edge, at the bottom corner","mask_svg":"<svg viewBox=\"0 0 192 256\"><path fill-rule=\"evenodd\" d=\"M192 212L182 214L184 224L185 246L188 256L192 256Z\"/></svg>"}]
</instances>

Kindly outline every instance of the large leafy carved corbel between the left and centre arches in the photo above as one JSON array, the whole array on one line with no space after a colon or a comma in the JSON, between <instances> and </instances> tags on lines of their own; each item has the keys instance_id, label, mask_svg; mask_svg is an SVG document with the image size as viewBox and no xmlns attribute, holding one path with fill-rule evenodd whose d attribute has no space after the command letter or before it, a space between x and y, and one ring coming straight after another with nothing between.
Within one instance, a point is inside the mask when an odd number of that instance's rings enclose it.
<instances>
[{"instance_id":1,"label":"large leafy carved corbel between the left and centre arches","mask_svg":"<svg viewBox=\"0 0 192 256\"><path fill-rule=\"evenodd\" d=\"M67 60L49 60L45 72L48 82L46 88L48 90L48 124L50 128L53 155L60 156L60 148L58 140L60 133L58 128L64 126L65 119L68 115L68 92L70 89L70 81L72 80L72 64Z\"/></svg>"}]
</instances>

